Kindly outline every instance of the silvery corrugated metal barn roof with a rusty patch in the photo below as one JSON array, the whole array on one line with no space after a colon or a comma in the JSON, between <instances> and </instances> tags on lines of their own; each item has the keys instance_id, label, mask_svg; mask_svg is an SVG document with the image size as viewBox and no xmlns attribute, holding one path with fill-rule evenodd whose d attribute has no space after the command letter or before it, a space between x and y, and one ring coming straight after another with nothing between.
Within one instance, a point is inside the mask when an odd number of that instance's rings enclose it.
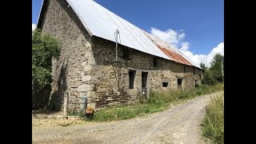
<instances>
[{"instance_id":1,"label":"silvery corrugated metal barn roof with a rusty patch","mask_svg":"<svg viewBox=\"0 0 256 144\"><path fill-rule=\"evenodd\" d=\"M166 58L188 66L197 66L174 46L139 29L92 0L66 0L90 35L115 42L114 32L119 30L120 44L135 50Z\"/></svg>"}]
</instances>

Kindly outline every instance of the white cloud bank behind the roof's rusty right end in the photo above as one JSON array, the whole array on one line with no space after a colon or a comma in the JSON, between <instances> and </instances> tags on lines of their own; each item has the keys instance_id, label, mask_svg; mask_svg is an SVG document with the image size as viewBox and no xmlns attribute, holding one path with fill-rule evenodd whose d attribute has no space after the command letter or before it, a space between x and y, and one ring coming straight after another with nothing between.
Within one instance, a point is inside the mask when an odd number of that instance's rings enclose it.
<instances>
[{"instance_id":1,"label":"white cloud bank behind the roof's rusty right end","mask_svg":"<svg viewBox=\"0 0 256 144\"><path fill-rule=\"evenodd\" d=\"M188 58L190 58L194 63L200 66L200 63L204 63L206 66L210 66L210 62L212 58L214 58L215 54L224 55L224 42L218 44L218 46L214 47L213 50L210 51L209 54L193 54L190 49L190 42L183 42L186 34L181 33L181 30L171 30L168 29L166 31L158 30L154 27L151 28L150 33L154 36L161 38L162 40L169 42L170 45L177 47L182 51Z\"/></svg>"}]
</instances>

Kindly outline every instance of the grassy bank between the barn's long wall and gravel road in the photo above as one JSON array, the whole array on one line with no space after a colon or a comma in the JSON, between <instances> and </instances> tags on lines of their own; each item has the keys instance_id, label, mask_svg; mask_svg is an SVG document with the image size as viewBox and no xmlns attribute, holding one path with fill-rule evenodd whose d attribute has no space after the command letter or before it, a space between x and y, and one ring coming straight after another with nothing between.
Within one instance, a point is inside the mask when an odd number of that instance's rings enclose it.
<instances>
[{"instance_id":1,"label":"grassy bank between the barn's long wall and gravel road","mask_svg":"<svg viewBox=\"0 0 256 144\"><path fill-rule=\"evenodd\" d=\"M166 110L170 104L175 104L202 94L210 94L224 90L223 83L214 86L202 85L192 90L170 90L166 92L150 92L148 102L140 102L134 105L110 106L94 114L93 121L105 122L135 118L145 114Z\"/></svg>"}]
</instances>

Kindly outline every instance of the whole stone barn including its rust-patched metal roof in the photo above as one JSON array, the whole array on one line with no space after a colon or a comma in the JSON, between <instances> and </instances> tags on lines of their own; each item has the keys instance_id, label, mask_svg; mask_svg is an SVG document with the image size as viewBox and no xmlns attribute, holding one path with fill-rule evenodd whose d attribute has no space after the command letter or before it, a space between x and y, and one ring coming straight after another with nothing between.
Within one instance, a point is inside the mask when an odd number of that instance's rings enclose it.
<instances>
[{"instance_id":1,"label":"whole stone barn including its rust-patched metal roof","mask_svg":"<svg viewBox=\"0 0 256 144\"><path fill-rule=\"evenodd\" d=\"M52 110L82 110L85 98L99 109L201 84L201 67L177 48L92 0L43 0L38 28L62 45Z\"/></svg>"}]
</instances>

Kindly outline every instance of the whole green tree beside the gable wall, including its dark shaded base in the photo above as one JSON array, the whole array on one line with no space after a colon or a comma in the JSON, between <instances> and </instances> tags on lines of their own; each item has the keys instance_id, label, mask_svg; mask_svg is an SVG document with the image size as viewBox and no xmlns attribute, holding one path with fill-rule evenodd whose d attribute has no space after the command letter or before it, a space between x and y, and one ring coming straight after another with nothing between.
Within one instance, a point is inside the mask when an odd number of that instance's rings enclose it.
<instances>
[{"instance_id":1,"label":"whole green tree beside the gable wall, including its dark shaded base","mask_svg":"<svg viewBox=\"0 0 256 144\"><path fill-rule=\"evenodd\" d=\"M49 102L52 58L58 58L60 50L57 39L32 31L32 109L45 108Z\"/></svg>"}]
</instances>

